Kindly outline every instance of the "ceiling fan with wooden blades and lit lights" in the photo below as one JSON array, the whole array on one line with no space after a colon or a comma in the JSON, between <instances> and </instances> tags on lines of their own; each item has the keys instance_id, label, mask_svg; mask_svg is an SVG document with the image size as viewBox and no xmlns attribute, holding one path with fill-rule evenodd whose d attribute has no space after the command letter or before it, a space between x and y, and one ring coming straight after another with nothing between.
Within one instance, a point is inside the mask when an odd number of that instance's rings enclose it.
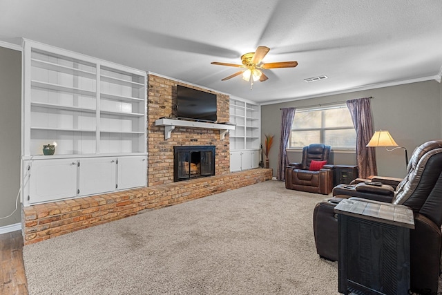
<instances>
[{"instance_id":1,"label":"ceiling fan with wooden blades and lit lights","mask_svg":"<svg viewBox=\"0 0 442 295\"><path fill-rule=\"evenodd\" d=\"M250 89L253 86L253 82L260 81L264 82L269 79L262 70L267 70L269 68L294 68L298 66L298 61L280 61L280 62L271 62L268 64L261 64L262 59L269 53L270 48L266 46L258 46L256 48L256 52L254 53L246 53L241 56L242 64L227 64L224 62L212 61L211 64L218 64L220 66L234 66L237 68L245 68L245 70L240 70L239 72L230 75L229 77L225 77L221 81L226 81L233 77L242 74L242 79L247 82L250 81Z\"/></svg>"}]
</instances>

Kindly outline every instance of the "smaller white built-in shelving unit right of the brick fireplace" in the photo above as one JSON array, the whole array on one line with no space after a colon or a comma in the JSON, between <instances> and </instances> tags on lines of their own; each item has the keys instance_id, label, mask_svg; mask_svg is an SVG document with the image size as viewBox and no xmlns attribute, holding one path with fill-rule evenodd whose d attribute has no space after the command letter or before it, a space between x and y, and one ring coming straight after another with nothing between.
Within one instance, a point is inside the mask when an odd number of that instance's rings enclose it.
<instances>
[{"instance_id":1,"label":"smaller white built-in shelving unit right of the brick fireplace","mask_svg":"<svg viewBox=\"0 0 442 295\"><path fill-rule=\"evenodd\" d=\"M243 99L230 98L231 171L258 168L260 161L260 106Z\"/></svg>"}]
</instances>

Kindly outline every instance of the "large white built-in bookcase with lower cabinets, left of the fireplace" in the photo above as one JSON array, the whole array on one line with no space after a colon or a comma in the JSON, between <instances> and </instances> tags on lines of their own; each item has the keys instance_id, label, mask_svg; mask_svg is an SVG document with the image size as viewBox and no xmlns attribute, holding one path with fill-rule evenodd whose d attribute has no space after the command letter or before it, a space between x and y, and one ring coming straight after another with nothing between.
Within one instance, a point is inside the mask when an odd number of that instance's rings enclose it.
<instances>
[{"instance_id":1,"label":"large white built-in bookcase with lower cabinets, left of the fireplace","mask_svg":"<svg viewBox=\"0 0 442 295\"><path fill-rule=\"evenodd\" d=\"M134 171L146 171L146 72L23 40L22 105L25 204L122 189L118 180L134 175L131 169L123 172L115 166L119 162L137 159L140 166L134 167ZM43 155L44 144L53 142L57 144L55 155ZM73 166L80 167L81 162L84 166L88 166L88 162L94 164L89 165L88 171L73 169ZM64 169L64 165L70 169ZM94 173L101 174L90 174L95 179L84 177L100 165L101 170ZM28 173L33 166L39 167L37 170L44 171L46 176L35 175L39 173L36 169ZM107 171L111 171L110 175ZM100 182L103 174L108 175L104 186ZM29 175L32 176L27 180ZM51 175L60 183L69 184L72 181L66 178L76 175L72 184L75 192L66 194L59 188L60 192L54 193L57 188L50 187L57 187L55 182L36 182ZM146 185L145 172L137 179L138 182L131 185Z\"/></svg>"}]
</instances>

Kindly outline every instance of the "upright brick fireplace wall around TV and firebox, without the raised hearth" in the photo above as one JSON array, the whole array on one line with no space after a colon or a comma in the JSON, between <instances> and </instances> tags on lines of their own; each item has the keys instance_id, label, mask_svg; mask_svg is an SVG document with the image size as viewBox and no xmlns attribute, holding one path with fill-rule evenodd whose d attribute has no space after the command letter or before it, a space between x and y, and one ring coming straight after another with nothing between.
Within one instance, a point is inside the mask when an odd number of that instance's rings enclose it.
<instances>
[{"instance_id":1,"label":"upright brick fireplace wall around TV and firebox, without the raised hearth","mask_svg":"<svg viewBox=\"0 0 442 295\"><path fill-rule=\"evenodd\" d=\"M174 146L215 146L215 175L230 173L229 135L220 138L220 131L176 127L171 138L164 139L164 126L155 126L155 120L162 117L175 117L177 104L176 86L182 85L200 91L204 88L177 82L166 77L148 75L148 185L174 182L173 149ZM229 122L229 95L217 95L218 122Z\"/></svg>"}]
</instances>

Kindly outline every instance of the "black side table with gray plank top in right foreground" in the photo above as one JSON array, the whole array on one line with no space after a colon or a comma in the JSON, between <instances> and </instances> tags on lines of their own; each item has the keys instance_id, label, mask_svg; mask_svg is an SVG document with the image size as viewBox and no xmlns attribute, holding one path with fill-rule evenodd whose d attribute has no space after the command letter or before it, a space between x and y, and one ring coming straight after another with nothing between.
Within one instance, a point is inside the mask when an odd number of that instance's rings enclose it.
<instances>
[{"instance_id":1,"label":"black side table with gray plank top in right foreground","mask_svg":"<svg viewBox=\"0 0 442 295\"><path fill-rule=\"evenodd\" d=\"M338 291L409 294L413 211L402 205L350 198L338 213Z\"/></svg>"}]
</instances>

